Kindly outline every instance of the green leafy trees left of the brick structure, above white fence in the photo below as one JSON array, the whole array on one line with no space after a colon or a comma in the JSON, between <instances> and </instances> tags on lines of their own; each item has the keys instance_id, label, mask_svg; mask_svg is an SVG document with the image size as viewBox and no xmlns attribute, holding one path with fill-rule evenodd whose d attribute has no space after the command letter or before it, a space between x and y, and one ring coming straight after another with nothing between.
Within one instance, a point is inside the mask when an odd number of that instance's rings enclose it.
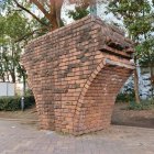
<instances>
[{"instance_id":1,"label":"green leafy trees left of the brick structure, above white fence","mask_svg":"<svg viewBox=\"0 0 154 154\"><path fill-rule=\"evenodd\" d=\"M30 32L26 19L14 12L0 20L0 78L3 81L16 81L18 76L25 76L20 66L20 55L24 42L15 41Z\"/></svg>"}]
</instances>

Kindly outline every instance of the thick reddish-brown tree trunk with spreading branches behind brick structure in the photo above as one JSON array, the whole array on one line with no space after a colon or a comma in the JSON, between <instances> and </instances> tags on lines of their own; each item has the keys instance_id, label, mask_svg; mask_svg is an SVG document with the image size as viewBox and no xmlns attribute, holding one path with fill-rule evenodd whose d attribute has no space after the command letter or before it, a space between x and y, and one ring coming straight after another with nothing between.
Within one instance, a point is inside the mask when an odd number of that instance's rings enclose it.
<instances>
[{"instance_id":1,"label":"thick reddish-brown tree trunk with spreading branches behind brick structure","mask_svg":"<svg viewBox=\"0 0 154 154\"><path fill-rule=\"evenodd\" d=\"M92 0L69 0L69 3L76 3L78 8L87 9L91 1ZM61 16L64 2L65 0L6 0L1 2L1 8L11 6L8 8L9 11L16 11L16 8L19 8L22 11L31 14L33 19L35 19L44 28L48 29L48 31L53 31L64 25ZM36 7L42 12L47 23L42 21L38 14L35 14L31 11L32 7Z\"/></svg>"}]
</instances>

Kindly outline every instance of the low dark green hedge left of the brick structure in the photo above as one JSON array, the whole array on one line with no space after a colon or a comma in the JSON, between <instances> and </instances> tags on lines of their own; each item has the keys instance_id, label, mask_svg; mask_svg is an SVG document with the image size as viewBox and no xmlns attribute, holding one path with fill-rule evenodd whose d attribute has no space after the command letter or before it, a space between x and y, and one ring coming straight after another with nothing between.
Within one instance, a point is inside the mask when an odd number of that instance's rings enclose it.
<instances>
[{"instance_id":1,"label":"low dark green hedge left of the brick structure","mask_svg":"<svg viewBox=\"0 0 154 154\"><path fill-rule=\"evenodd\" d=\"M33 96L24 97L24 109L28 109L35 105ZM0 98L0 110L3 111L16 111L21 110L21 97L2 97Z\"/></svg>"}]
</instances>

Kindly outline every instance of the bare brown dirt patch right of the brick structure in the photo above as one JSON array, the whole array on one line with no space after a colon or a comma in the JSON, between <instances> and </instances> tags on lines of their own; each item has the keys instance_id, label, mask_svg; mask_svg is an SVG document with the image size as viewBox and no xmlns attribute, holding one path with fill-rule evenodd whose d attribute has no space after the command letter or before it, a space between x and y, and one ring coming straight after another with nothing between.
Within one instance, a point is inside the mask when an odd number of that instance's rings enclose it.
<instances>
[{"instance_id":1,"label":"bare brown dirt patch right of the brick structure","mask_svg":"<svg viewBox=\"0 0 154 154\"><path fill-rule=\"evenodd\" d=\"M154 129L154 109L152 110L123 110L127 103L117 103L112 113L112 124L130 125Z\"/></svg>"}]
</instances>

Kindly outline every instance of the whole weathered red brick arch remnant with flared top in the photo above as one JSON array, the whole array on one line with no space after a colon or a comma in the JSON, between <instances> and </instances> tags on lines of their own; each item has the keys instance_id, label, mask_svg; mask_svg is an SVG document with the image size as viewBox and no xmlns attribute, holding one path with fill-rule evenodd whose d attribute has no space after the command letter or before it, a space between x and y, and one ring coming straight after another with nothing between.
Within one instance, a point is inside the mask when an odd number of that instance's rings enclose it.
<instances>
[{"instance_id":1,"label":"whole weathered red brick arch remnant with flared top","mask_svg":"<svg viewBox=\"0 0 154 154\"><path fill-rule=\"evenodd\" d=\"M109 127L132 52L121 31L94 16L30 42L22 63L41 128L78 135Z\"/></svg>"}]
</instances>

